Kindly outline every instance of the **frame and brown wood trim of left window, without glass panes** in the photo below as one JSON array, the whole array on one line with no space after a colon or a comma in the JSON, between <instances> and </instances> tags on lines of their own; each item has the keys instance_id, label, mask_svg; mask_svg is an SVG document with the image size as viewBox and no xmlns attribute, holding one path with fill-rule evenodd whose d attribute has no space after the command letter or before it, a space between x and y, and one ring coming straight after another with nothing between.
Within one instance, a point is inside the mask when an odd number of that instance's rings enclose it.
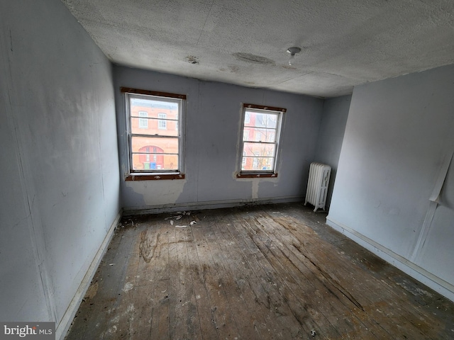
<instances>
[{"instance_id":1,"label":"frame and brown wood trim of left window, without glass panes","mask_svg":"<svg viewBox=\"0 0 454 340\"><path fill-rule=\"evenodd\" d=\"M186 105L186 96L181 95L181 94L168 94L168 93L162 93L162 92L156 92L156 91L146 91L146 90L136 90L136 89L129 89L129 88L121 88L121 91L125 94L126 98L126 125L128 127L128 173L131 176L127 176L127 180L140 180L140 179L148 179L148 177L143 176L142 178L140 176L135 176L135 175L147 175L151 174L153 175L153 178L151 179L167 179L166 175L179 175L177 177L175 176L170 176L168 179L184 179L184 112L185 112L185 105ZM163 132L163 135L149 135L149 134L140 134L140 133L133 133L132 132L132 124L131 124L131 119L132 118L138 118L138 116L133 116L131 117L131 98L140 98L140 99L151 99L153 101L162 101L164 103L177 103L178 104L178 113L177 113L177 119L165 119L166 123L166 130L167 130L167 120L173 120L177 123L178 129L177 129L177 136L175 135L165 135L165 132ZM160 121L159 118L150 118L148 117L147 120L157 120L157 122ZM159 126L159 123L158 123ZM157 138L178 138L178 165L177 169L174 170L167 170L167 169L133 169L133 154L137 152L132 151L132 140L133 137L157 137ZM155 176L157 174L163 175L163 176ZM183 176L182 176L183 175Z\"/></svg>"}]
</instances>

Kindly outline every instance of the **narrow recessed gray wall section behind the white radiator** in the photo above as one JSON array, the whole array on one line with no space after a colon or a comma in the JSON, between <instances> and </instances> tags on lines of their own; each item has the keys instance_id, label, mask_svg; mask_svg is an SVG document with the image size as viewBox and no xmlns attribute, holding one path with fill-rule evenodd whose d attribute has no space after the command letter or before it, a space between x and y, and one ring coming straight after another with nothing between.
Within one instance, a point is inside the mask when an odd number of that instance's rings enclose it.
<instances>
[{"instance_id":1,"label":"narrow recessed gray wall section behind the white radiator","mask_svg":"<svg viewBox=\"0 0 454 340\"><path fill-rule=\"evenodd\" d=\"M331 196L333 196L334 181L336 180L339 157L341 156L343 135L351 99L352 96L341 96L329 98L323 102L323 115L314 161L331 166L328 195L326 196L327 208L331 205Z\"/></svg>"}]
</instances>

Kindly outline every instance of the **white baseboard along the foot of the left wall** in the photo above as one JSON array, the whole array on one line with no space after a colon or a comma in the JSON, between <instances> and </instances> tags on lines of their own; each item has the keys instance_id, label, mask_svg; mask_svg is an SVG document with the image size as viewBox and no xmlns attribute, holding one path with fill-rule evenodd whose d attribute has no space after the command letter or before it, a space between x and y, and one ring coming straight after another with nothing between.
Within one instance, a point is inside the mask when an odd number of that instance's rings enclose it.
<instances>
[{"instance_id":1,"label":"white baseboard along the foot of the left wall","mask_svg":"<svg viewBox=\"0 0 454 340\"><path fill-rule=\"evenodd\" d=\"M79 305L82 302L82 299L84 298L85 293L87 293L89 285L92 282L94 273L96 273L99 263L101 263L101 259L103 258L104 254L106 253L107 247L109 246L109 243L111 242L111 239L114 236L115 228L118 225L118 222L120 221L122 215L123 215L123 211L120 210L118 212L118 214L116 215L114 222L111 224L111 227L109 228L109 231L107 232L106 237L104 237L104 241L102 242L101 246L99 247L98 251L96 252L96 255L94 256L94 259L93 259L92 263L90 264L90 266L87 270L87 273L85 273L85 276L82 279L82 282L80 283L79 288L77 288L77 291L74 294L74 297L72 297L70 305L67 307L65 314L63 315L62 319L60 320L60 323L58 324L57 328L55 329L55 339L60 339L60 340L65 339L67 331L68 331L68 329L70 329L72 320L74 319L74 316L75 316L77 310L79 309Z\"/></svg>"}]
</instances>

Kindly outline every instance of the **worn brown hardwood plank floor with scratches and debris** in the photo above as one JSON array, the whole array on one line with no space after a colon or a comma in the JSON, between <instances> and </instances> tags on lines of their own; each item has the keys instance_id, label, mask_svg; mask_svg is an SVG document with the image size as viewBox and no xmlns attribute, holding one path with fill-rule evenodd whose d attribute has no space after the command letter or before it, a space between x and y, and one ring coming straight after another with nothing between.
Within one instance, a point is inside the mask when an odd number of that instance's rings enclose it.
<instances>
[{"instance_id":1,"label":"worn brown hardwood plank floor with scratches and debris","mask_svg":"<svg viewBox=\"0 0 454 340\"><path fill-rule=\"evenodd\" d=\"M454 339L453 302L324 213L292 203L177 215L123 218L67 340Z\"/></svg>"}]
</instances>

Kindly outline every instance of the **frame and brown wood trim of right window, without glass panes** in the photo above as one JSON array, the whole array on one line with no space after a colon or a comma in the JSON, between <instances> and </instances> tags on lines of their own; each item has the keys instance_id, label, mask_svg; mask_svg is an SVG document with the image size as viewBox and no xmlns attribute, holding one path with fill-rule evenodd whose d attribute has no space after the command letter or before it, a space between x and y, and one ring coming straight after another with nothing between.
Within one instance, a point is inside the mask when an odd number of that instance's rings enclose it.
<instances>
[{"instance_id":1,"label":"frame and brown wood trim of right window, without glass panes","mask_svg":"<svg viewBox=\"0 0 454 340\"><path fill-rule=\"evenodd\" d=\"M238 160L239 164L239 169L238 169L238 174L237 177L248 177L248 176L255 176L255 175L265 175L265 176L277 176L277 164L278 164L278 157L279 157L279 147L280 147L280 139L281 139L281 132L282 132L282 122L284 120L284 113L287 110L285 108L272 108L272 107L266 107L266 106L258 106L254 104L243 104L243 112L241 115L241 132L240 132L240 150L238 154L240 155L240 159ZM277 122L276 122L276 128L272 128L270 130L275 130L275 141L270 141L270 140L265 140L263 142L256 141L255 138L253 140L248 140L249 138L247 137L246 140L243 136L243 133L245 131L245 125L250 124L250 115L248 114L249 112L253 113L266 113L266 114L275 114L277 116ZM249 127L251 129L264 129L261 126L256 126L256 127ZM264 129L266 130L266 128ZM246 164L245 161L245 154L247 152L245 151L245 143L258 143L258 144L269 144L269 145L274 145L274 157L273 158L273 167L272 169L252 169L252 170L243 170L243 167ZM254 163L254 157L257 157L257 155L253 156L248 156L248 158L253 158L253 163ZM260 158L260 157L258 157Z\"/></svg>"}]
</instances>

